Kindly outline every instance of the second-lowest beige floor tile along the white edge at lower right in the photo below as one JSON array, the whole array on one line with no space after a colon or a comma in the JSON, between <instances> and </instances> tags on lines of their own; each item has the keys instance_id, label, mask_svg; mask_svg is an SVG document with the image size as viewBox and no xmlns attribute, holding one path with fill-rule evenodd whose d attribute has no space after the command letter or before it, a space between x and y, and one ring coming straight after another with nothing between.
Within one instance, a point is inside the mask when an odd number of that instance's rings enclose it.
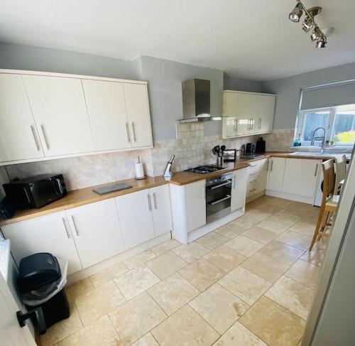
<instances>
[{"instance_id":1,"label":"second-lowest beige floor tile along the white edge at lower right","mask_svg":"<svg viewBox=\"0 0 355 346\"><path fill-rule=\"evenodd\" d=\"M265 296L307 320L308 311L312 306L314 291L302 283L287 276L276 281Z\"/></svg>"}]
</instances>

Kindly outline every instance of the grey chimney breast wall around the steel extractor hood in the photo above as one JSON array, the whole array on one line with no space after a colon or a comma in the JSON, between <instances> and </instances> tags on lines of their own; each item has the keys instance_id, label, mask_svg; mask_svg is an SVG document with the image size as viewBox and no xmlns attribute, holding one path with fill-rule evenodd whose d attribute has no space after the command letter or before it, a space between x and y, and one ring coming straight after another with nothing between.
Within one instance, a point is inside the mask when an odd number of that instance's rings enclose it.
<instances>
[{"instance_id":1,"label":"grey chimney breast wall around the steel extractor hood","mask_svg":"<svg viewBox=\"0 0 355 346\"><path fill-rule=\"evenodd\" d=\"M191 78L211 81L211 114L222 114L223 72L208 67L141 57L143 80L148 81L155 140L175 139L175 120L182 119L181 82ZM205 135L221 133L221 121L206 123Z\"/></svg>"}]
</instances>

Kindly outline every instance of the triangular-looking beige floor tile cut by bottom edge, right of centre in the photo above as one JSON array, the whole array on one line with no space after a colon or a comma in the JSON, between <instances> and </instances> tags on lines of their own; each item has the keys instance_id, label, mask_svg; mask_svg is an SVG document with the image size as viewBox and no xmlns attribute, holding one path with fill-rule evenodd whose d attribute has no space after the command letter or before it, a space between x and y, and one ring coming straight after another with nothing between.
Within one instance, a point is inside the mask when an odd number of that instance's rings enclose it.
<instances>
[{"instance_id":1,"label":"triangular-looking beige floor tile cut by bottom edge, right of centre","mask_svg":"<svg viewBox=\"0 0 355 346\"><path fill-rule=\"evenodd\" d=\"M229 328L214 346L267 346L250 330L239 322Z\"/></svg>"}]
</instances>

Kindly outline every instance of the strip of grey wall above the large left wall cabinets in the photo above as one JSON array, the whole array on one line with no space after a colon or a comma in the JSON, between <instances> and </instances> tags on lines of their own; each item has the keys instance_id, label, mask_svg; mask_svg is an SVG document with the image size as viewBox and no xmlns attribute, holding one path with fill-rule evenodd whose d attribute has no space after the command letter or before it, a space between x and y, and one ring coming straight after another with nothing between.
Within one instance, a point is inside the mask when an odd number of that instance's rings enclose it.
<instances>
[{"instance_id":1,"label":"strip of grey wall above the large left wall cabinets","mask_svg":"<svg viewBox=\"0 0 355 346\"><path fill-rule=\"evenodd\" d=\"M141 77L128 60L3 42L0 42L0 68L134 80Z\"/></svg>"}]
</instances>

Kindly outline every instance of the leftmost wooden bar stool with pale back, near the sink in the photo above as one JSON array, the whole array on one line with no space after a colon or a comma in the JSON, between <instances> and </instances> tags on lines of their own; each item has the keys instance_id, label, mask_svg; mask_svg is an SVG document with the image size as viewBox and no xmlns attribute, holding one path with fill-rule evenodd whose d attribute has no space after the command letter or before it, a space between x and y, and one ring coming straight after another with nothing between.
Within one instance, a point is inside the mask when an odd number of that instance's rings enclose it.
<instances>
[{"instance_id":1,"label":"leftmost wooden bar stool with pale back, near the sink","mask_svg":"<svg viewBox=\"0 0 355 346\"><path fill-rule=\"evenodd\" d=\"M321 237L327 236L324 232L326 226L330 224L327 223L329 214L337 210L337 205L339 202L339 195L334 195L335 186L335 173L334 173L334 160L328 160L322 163L323 171L323 195L322 195L322 205L320 207L320 215L318 217L317 226L315 227L315 234L313 234L313 239L310 244L310 251L313 248L315 242L317 242Z\"/></svg>"}]
</instances>

